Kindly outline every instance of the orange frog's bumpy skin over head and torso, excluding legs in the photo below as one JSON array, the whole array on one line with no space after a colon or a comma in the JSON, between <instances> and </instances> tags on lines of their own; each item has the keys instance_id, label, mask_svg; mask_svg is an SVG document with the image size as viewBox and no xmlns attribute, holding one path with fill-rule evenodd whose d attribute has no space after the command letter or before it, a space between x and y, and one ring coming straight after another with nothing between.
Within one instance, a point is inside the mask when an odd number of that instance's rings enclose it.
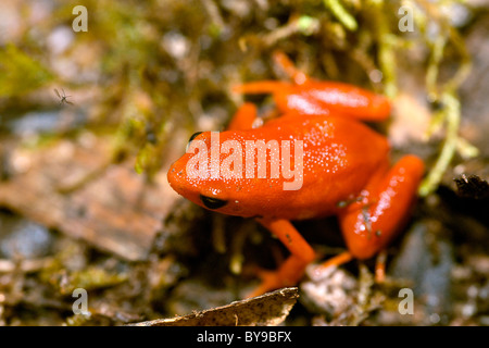
<instances>
[{"instance_id":1,"label":"orange frog's bumpy skin over head and torso, excluding legs","mask_svg":"<svg viewBox=\"0 0 489 348\"><path fill-rule=\"evenodd\" d=\"M284 190L284 182L290 179L283 176L246 178L244 165L242 178L188 178L187 161L195 153L186 153L173 164L168 181L177 192L204 208L200 195L226 200L228 203L217 211L243 217L302 220L336 214L341 210L340 201L354 199L378 167L386 165L389 150L385 137L359 122L337 116L285 115L256 129L220 134L221 144L228 139L239 141L242 149L247 140L303 141L299 190ZM202 133L195 140L203 140L210 148L211 133ZM221 153L221 162L227 156ZM242 158L244 163L244 153Z\"/></svg>"}]
</instances>

